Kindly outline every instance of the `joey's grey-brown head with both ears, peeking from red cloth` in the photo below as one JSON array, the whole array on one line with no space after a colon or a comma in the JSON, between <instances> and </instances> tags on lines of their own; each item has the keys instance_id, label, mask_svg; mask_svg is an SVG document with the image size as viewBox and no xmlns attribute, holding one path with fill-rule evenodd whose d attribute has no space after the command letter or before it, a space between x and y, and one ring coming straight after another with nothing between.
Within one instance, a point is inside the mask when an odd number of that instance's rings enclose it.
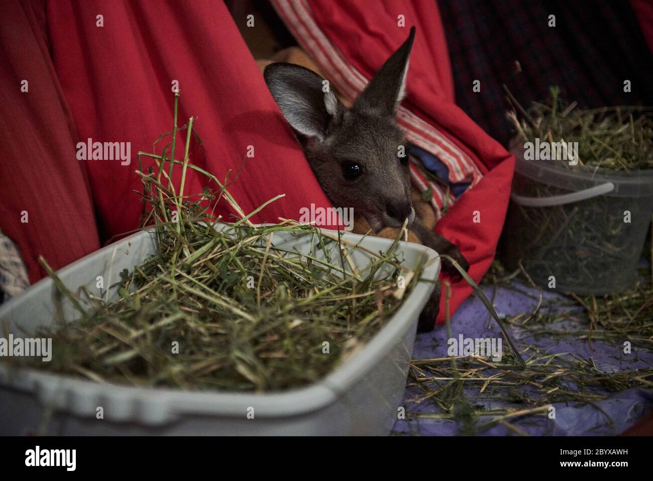
<instances>
[{"instance_id":1,"label":"joey's grey-brown head with both ears, peeking from red cloth","mask_svg":"<svg viewBox=\"0 0 653 481\"><path fill-rule=\"evenodd\" d=\"M405 93L415 27L346 108L313 71L272 63L265 81L295 129L311 168L336 207L353 207L370 226L401 227L415 217L408 152L394 117Z\"/></svg>"}]
</instances>

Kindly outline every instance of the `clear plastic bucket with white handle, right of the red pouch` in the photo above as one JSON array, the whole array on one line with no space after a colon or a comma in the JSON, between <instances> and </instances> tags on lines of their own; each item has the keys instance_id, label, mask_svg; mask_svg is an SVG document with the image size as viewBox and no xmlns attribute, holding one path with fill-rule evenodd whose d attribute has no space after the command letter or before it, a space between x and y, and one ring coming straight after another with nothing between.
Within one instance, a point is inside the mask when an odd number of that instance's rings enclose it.
<instances>
[{"instance_id":1,"label":"clear plastic bucket with white handle, right of the red pouch","mask_svg":"<svg viewBox=\"0 0 653 481\"><path fill-rule=\"evenodd\" d=\"M629 173L565 161L517 159L503 241L509 269L521 261L543 288L586 295L635 281L653 212L653 170Z\"/></svg>"}]
</instances>

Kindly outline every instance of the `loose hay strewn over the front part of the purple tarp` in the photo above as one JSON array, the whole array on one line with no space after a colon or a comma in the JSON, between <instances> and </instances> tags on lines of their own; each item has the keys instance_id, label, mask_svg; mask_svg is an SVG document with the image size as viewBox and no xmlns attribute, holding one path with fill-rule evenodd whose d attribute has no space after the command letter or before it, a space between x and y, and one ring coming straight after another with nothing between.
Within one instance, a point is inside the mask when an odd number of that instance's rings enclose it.
<instances>
[{"instance_id":1,"label":"loose hay strewn over the front part of the purple tarp","mask_svg":"<svg viewBox=\"0 0 653 481\"><path fill-rule=\"evenodd\" d=\"M488 357L439 357L414 360L409 387L419 394L407 409L409 419L450 419L462 435L475 435L504 425L518 435L524 431L515 421L530 421L555 414L554 403L574 406L596 405L596 401L630 388L653 390L653 368L604 373L592 359L569 353L550 354L531 346L522 352L527 357L523 371L512 369L507 358L494 362ZM434 403L436 413L412 411L414 403ZM494 402L502 408L487 409ZM605 413L603 413L605 414ZM612 421L606 416L607 424Z\"/></svg>"}]
</instances>

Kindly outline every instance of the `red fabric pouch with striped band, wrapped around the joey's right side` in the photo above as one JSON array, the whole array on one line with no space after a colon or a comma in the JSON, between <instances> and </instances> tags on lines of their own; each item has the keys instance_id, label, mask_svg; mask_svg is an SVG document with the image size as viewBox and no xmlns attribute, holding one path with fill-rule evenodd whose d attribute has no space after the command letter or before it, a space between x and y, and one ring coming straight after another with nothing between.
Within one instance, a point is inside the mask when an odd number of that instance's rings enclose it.
<instances>
[{"instance_id":1,"label":"red fabric pouch with striped band, wrapped around the joey's right side","mask_svg":"<svg viewBox=\"0 0 653 481\"><path fill-rule=\"evenodd\" d=\"M470 188L449 205L436 232L456 244L479 281L494 259L510 196L515 159L454 103L451 65L436 2L273 0L281 19L336 88L355 97L417 28L398 122L407 140L443 161L454 182ZM470 88L472 86L470 85ZM445 193L434 189L441 207ZM470 295L452 285L453 313ZM445 322L444 298L438 323Z\"/></svg>"}]
</instances>

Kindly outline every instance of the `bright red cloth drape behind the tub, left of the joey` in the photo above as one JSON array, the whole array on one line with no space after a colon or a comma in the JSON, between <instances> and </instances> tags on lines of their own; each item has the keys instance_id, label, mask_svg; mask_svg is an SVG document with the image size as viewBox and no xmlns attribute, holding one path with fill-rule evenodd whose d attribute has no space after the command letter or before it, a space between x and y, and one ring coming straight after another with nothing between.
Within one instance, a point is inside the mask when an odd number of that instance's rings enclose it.
<instances>
[{"instance_id":1,"label":"bright red cloth drape behind the tub, left of the joey","mask_svg":"<svg viewBox=\"0 0 653 481\"><path fill-rule=\"evenodd\" d=\"M47 13L54 65L80 138L131 142L129 166L87 163L103 237L136 227L136 151L151 152L156 137L171 130L173 80L180 120L194 116L204 144L193 146L191 162L225 178L246 159L230 187L246 212L286 194L255 222L298 218L310 203L330 206L223 2L54 0ZM180 145L182 135L181 159ZM253 158L246 158L248 146ZM199 175L186 182L185 192L202 190ZM221 207L216 212L225 214L226 203Z\"/></svg>"}]
</instances>

